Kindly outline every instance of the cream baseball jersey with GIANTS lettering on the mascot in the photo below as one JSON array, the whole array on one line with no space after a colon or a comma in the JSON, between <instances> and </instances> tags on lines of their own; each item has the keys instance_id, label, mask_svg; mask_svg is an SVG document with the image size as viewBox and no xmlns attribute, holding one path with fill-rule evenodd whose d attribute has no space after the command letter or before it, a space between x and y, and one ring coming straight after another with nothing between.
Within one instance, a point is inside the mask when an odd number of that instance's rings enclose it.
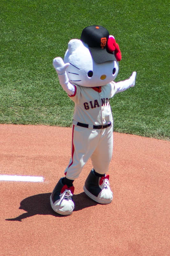
<instances>
[{"instance_id":1,"label":"cream baseball jersey with GIANTS lettering on the mascot","mask_svg":"<svg viewBox=\"0 0 170 256\"><path fill-rule=\"evenodd\" d=\"M75 103L73 124L81 122L93 128L93 125L113 123L109 99L116 91L114 82L102 87L75 86L75 93L70 96Z\"/></svg>"}]
</instances>

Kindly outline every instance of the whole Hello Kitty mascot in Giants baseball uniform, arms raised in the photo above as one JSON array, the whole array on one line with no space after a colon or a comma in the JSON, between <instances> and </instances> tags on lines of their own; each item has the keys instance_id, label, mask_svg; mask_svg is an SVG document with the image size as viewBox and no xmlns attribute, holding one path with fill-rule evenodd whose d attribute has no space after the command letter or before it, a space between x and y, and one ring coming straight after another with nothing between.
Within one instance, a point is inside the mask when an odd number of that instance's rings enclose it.
<instances>
[{"instance_id":1,"label":"whole Hello Kitty mascot in Giants baseball uniform, arms raised","mask_svg":"<svg viewBox=\"0 0 170 256\"><path fill-rule=\"evenodd\" d=\"M68 43L64 61L57 57L53 66L61 86L75 103L72 124L72 147L65 177L55 186L50 202L52 209L62 215L74 210L73 181L91 158L84 192L92 200L108 204L113 193L106 172L113 151L113 118L109 99L135 85L136 72L125 81L115 83L121 51L115 38L102 26L83 29L80 40Z\"/></svg>"}]
</instances>

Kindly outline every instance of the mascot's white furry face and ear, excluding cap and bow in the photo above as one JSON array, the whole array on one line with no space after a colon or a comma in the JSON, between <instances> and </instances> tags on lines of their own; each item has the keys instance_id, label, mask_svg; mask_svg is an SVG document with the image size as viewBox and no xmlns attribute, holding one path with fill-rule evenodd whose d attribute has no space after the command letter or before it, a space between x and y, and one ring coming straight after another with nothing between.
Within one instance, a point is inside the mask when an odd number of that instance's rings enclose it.
<instances>
[{"instance_id":1,"label":"mascot's white furry face and ear, excluding cap and bow","mask_svg":"<svg viewBox=\"0 0 170 256\"><path fill-rule=\"evenodd\" d=\"M88 45L78 39L72 39L68 43L64 62L70 63L66 71L70 83L84 87L106 85L116 78L119 70L117 61L96 63Z\"/></svg>"}]
</instances>

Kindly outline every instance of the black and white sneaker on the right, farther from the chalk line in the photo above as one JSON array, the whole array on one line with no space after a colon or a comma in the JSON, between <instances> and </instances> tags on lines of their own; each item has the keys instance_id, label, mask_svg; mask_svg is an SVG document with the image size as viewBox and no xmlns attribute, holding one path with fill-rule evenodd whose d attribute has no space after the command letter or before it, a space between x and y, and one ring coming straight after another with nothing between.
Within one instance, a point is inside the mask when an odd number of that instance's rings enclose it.
<instances>
[{"instance_id":1,"label":"black and white sneaker on the right, farther from the chalk line","mask_svg":"<svg viewBox=\"0 0 170 256\"><path fill-rule=\"evenodd\" d=\"M86 195L98 203L108 204L112 202L113 192L109 187L109 175L98 177L92 169L83 189Z\"/></svg>"}]
</instances>

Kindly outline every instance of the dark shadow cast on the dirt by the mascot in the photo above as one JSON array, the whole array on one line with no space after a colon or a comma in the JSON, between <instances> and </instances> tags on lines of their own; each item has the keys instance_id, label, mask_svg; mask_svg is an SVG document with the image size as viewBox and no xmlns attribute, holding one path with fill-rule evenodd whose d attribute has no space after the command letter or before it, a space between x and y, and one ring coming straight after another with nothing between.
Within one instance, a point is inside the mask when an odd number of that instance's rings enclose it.
<instances>
[{"instance_id":1,"label":"dark shadow cast on the dirt by the mascot","mask_svg":"<svg viewBox=\"0 0 170 256\"><path fill-rule=\"evenodd\" d=\"M37 214L52 215L55 217L66 217L58 213L55 213L55 211L52 210L50 205L50 195L51 193L45 193L45 194L37 194L37 195L33 195L25 198L20 202L19 209L22 209L26 212L19 215L16 218L6 219L6 220L22 221L22 219L26 219L28 217L31 217ZM91 200L84 192L77 195L73 195L73 201L75 203L74 211L79 211L84 208L98 204L97 202L94 202L93 200Z\"/></svg>"}]
</instances>

